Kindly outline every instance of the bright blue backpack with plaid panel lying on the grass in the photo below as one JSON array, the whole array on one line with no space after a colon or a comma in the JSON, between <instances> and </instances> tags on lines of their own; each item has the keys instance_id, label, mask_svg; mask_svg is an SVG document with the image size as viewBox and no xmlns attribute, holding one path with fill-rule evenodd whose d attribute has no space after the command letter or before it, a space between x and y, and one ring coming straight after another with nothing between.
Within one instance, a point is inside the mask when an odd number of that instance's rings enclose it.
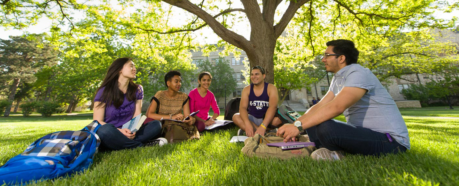
<instances>
[{"instance_id":1,"label":"bright blue backpack with plaid panel lying on the grass","mask_svg":"<svg viewBox=\"0 0 459 186\"><path fill-rule=\"evenodd\" d=\"M0 167L0 185L25 184L83 171L92 164L101 143L96 120L81 131L50 133Z\"/></svg>"}]
</instances>

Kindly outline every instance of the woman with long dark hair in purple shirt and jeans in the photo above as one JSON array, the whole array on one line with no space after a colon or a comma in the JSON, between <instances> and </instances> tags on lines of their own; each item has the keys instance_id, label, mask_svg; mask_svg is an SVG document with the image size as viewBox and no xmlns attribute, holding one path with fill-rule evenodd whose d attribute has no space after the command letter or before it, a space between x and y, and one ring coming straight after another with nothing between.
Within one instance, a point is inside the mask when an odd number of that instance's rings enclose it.
<instances>
[{"instance_id":1,"label":"woman with long dark hair in purple shirt and jeans","mask_svg":"<svg viewBox=\"0 0 459 186\"><path fill-rule=\"evenodd\" d=\"M93 119L102 124L96 132L102 148L119 150L167 143L164 138L152 140L161 130L161 123L157 120L141 126L137 132L121 129L123 124L141 113L143 88L133 82L136 73L130 58L118 58L108 67L107 75L97 89Z\"/></svg>"}]
</instances>

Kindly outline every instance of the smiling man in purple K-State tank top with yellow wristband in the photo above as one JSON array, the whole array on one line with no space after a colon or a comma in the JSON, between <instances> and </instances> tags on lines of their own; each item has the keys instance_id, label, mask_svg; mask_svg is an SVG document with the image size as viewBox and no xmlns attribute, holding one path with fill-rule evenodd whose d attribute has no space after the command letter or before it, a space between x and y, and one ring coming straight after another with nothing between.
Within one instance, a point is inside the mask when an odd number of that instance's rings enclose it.
<instances>
[{"instance_id":1,"label":"smiling man in purple K-State tank top with yellow wristband","mask_svg":"<svg viewBox=\"0 0 459 186\"><path fill-rule=\"evenodd\" d=\"M277 88L273 84L264 82L265 71L261 66L254 66L250 72L252 83L242 90L239 113L233 116L236 126L241 128L238 135L246 132L248 137L255 134L264 135L269 124L280 126L282 121L275 117L279 99Z\"/></svg>"}]
</instances>

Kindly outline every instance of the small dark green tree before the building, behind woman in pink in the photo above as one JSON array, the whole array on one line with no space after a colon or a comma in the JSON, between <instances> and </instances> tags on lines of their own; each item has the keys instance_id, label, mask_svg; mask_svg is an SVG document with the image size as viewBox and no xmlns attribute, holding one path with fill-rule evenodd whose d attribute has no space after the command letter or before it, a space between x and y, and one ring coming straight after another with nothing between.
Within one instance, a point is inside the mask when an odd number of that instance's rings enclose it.
<instances>
[{"instance_id":1,"label":"small dark green tree before the building, behind woman in pink","mask_svg":"<svg viewBox=\"0 0 459 186\"><path fill-rule=\"evenodd\" d=\"M233 77L234 70L229 66L229 61L219 58L215 62L205 60L198 63L198 71L194 79L197 78L199 73L208 71L212 75L212 84L209 90L215 95L217 102L220 98L225 98L230 95L237 87L236 80ZM197 86L196 86L197 87Z\"/></svg>"}]
</instances>

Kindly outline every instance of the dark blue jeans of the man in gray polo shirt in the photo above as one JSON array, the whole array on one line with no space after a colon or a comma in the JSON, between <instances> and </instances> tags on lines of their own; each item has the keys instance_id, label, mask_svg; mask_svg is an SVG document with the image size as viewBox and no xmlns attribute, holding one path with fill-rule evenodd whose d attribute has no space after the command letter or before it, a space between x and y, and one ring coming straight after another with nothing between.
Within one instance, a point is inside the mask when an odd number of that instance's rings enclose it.
<instances>
[{"instance_id":1,"label":"dark blue jeans of the man in gray polo shirt","mask_svg":"<svg viewBox=\"0 0 459 186\"><path fill-rule=\"evenodd\" d=\"M344 150L351 154L376 156L406 151L397 141L392 139L390 142L386 133L353 126L339 120L328 120L306 131L317 148L324 147L331 151Z\"/></svg>"}]
</instances>

